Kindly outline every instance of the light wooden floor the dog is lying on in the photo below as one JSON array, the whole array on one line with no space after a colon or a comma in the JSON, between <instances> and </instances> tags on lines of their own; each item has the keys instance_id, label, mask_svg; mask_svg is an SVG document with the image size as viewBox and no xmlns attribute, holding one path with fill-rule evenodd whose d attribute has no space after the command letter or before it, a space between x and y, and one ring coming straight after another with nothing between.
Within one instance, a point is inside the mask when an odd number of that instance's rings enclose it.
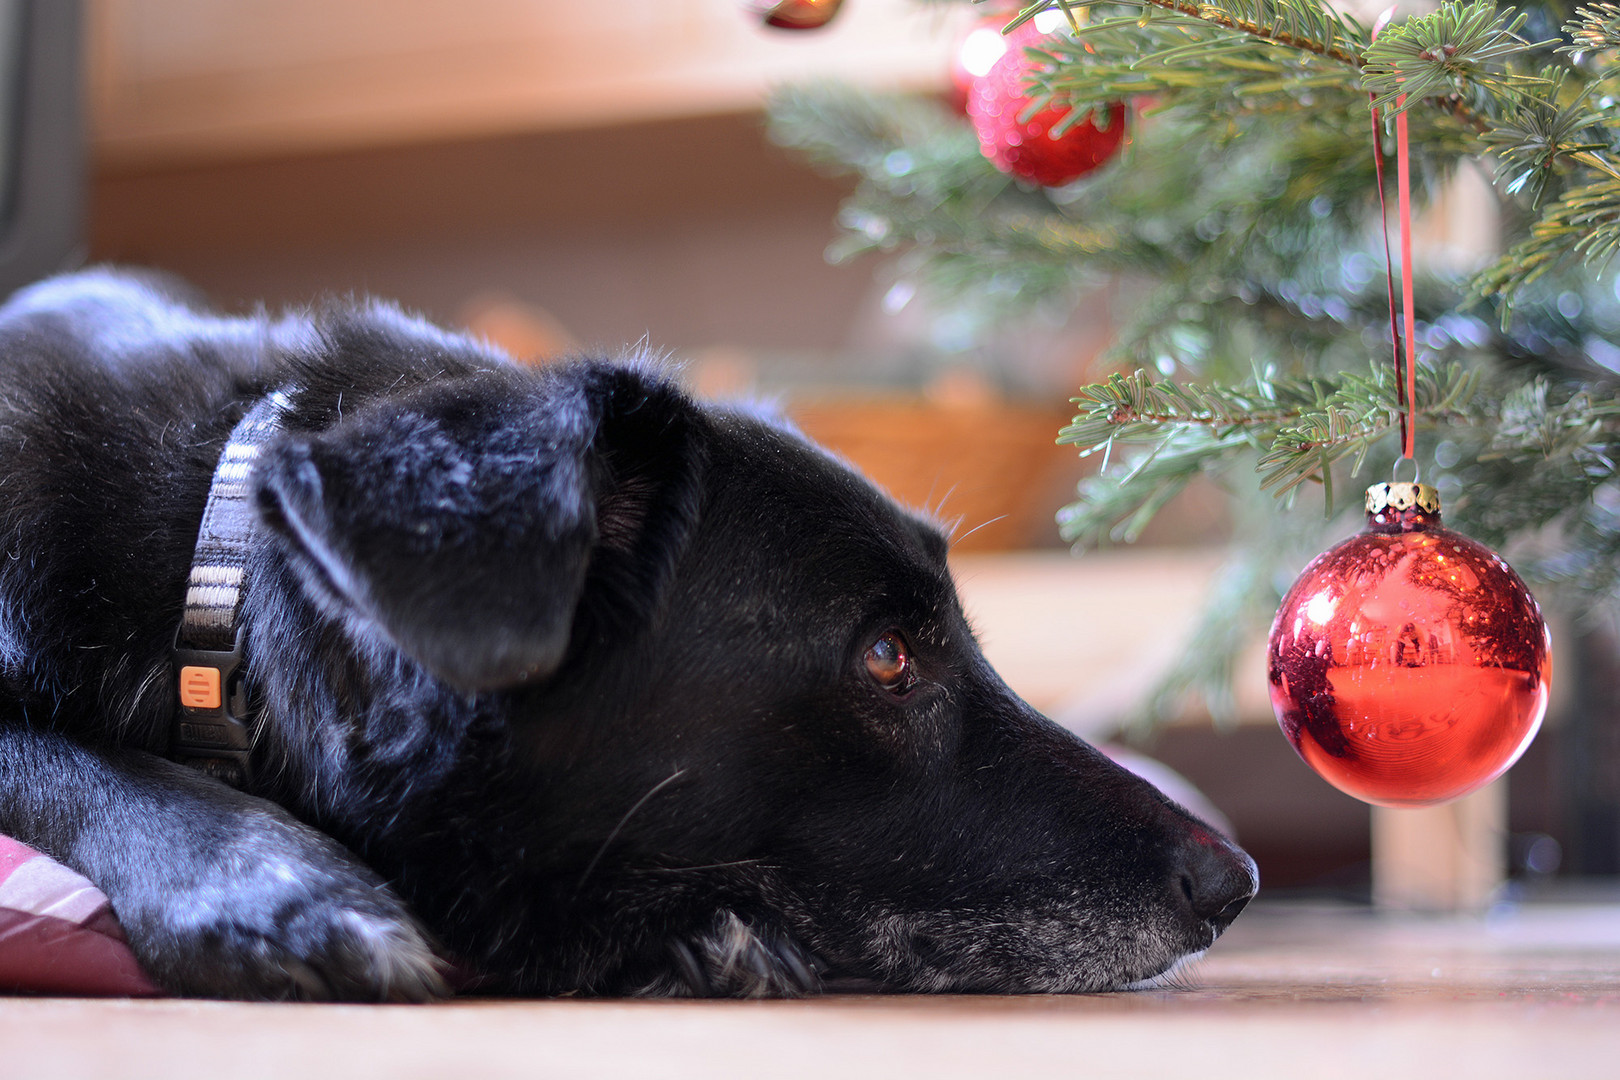
<instances>
[{"instance_id":1,"label":"light wooden floor the dog is lying on","mask_svg":"<svg viewBox=\"0 0 1620 1080\"><path fill-rule=\"evenodd\" d=\"M0 1078L1620 1077L1620 905L1256 905L1181 980L1085 997L431 1007L0 1001Z\"/></svg>"}]
</instances>

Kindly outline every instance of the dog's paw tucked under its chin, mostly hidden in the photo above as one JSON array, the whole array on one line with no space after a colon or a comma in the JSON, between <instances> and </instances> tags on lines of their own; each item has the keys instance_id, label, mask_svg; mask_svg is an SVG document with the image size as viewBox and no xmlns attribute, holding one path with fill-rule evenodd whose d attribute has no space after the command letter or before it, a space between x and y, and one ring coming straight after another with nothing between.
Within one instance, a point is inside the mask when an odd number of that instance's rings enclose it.
<instances>
[{"instance_id":1,"label":"dog's paw tucked under its chin, mostly hidden","mask_svg":"<svg viewBox=\"0 0 1620 1080\"><path fill-rule=\"evenodd\" d=\"M802 997L821 989L820 965L791 938L719 912L669 944L671 970L642 989L661 997Z\"/></svg>"}]
</instances>

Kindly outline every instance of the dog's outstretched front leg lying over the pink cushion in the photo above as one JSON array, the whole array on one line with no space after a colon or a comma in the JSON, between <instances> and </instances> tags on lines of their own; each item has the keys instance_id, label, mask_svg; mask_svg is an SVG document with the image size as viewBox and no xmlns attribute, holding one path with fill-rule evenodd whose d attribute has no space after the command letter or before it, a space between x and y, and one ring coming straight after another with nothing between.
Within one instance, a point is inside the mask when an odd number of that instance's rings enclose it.
<instances>
[{"instance_id":1,"label":"dog's outstretched front leg lying over the pink cushion","mask_svg":"<svg viewBox=\"0 0 1620 1080\"><path fill-rule=\"evenodd\" d=\"M426 934L360 860L280 806L170 761L0 721L0 831L94 881L173 993L446 993Z\"/></svg>"}]
</instances>

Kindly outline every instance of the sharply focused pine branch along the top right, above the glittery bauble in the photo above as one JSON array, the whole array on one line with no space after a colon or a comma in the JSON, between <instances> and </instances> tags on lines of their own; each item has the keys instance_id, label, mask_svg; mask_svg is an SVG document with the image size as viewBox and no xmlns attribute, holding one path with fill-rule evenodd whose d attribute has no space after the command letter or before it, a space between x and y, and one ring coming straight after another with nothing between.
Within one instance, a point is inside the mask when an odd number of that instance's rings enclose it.
<instances>
[{"instance_id":1,"label":"sharply focused pine branch along the top right, above the glittery bauble","mask_svg":"<svg viewBox=\"0 0 1620 1080\"><path fill-rule=\"evenodd\" d=\"M1025 5L1019 18L1056 3ZM1144 15L1165 3L1176 8L1171 0L1124 3ZM1393 108L1405 92L1408 113L1427 118L1413 133L1419 162L1429 155L1430 165L1443 170L1464 154L1494 154L1503 189L1533 204L1573 185L1469 288L1473 300L1498 306L1503 325L1513 317L1518 290L1571 257L1601 270L1620 251L1620 189L1609 165L1620 155L1620 117L1591 105L1599 91L1620 94L1620 81L1588 83L1571 97L1565 92L1571 70L1518 70L1523 58L1554 42L1526 40L1526 16L1498 11L1489 0L1450 0L1430 15L1387 28L1377 42L1367 40L1353 21L1322 16L1327 24L1311 23L1311 10L1314 0L1244 0L1233 10L1181 3L1145 23L1105 19L1082 28L1074 40L1053 37L1037 53L1032 84L1047 100L1069 100L1071 121L1103 102L1152 94L1162 108L1181 108L1187 117L1225 117L1205 125L1226 139L1257 123L1277 123L1273 117L1281 112L1301 131L1330 125L1340 139L1364 138L1356 131L1364 123L1356 120L1364 107L1358 96L1374 91L1380 107ZM1571 32L1594 44L1607 40L1602 34L1609 21L1620 16L1583 11L1584 23L1571 23ZM1207 13L1213 16L1200 18ZM1233 29L1233 21L1257 21L1262 29L1283 26L1290 39L1315 26L1312 42L1324 49L1338 42L1335 49L1358 63L1338 63L1335 73L1328 70L1335 65L1324 66L1322 52L1306 49L1302 57L1290 58L1291 49ZM1353 78L1358 71L1359 78ZM1419 100L1432 107L1413 113ZM1243 115L1254 123L1244 126ZM1437 126L1442 120L1461 121L1468 138L1445 134L1443 125Z\"/></svg>"}]
</instances>

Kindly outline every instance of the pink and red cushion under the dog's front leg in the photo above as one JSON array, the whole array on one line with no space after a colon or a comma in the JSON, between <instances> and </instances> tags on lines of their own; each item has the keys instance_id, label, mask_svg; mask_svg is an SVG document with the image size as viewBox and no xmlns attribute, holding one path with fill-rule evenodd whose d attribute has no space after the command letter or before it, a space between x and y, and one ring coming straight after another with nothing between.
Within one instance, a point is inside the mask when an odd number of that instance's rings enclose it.
<instances>
[{"instance_id":1,"label":"pink and red cushion under the dog's front leg","mask_svg":"<svg viewBox=\"0 0 1620 1080\"><path fill-rule=\"evenodd\" d=\"M105 894L0 836L0 991L149 997L152 984Z\"/></svg>"}]
</instances>

